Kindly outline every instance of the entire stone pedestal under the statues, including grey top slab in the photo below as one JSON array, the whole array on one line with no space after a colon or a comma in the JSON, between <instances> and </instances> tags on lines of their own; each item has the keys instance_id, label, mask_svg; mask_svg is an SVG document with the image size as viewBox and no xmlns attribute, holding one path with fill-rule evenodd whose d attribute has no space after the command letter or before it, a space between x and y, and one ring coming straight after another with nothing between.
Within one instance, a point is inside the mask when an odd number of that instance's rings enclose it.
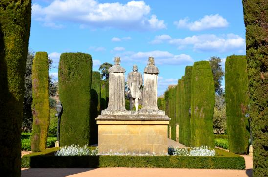
<instances>
[{"instance_id":1,"label":"entire stone pedestal under the statues, including grey top slab","mask_svg":"<svg viewBox=\"0 0 268 177\"><path fill-rule=\"evenodd\" d=\"M164 111L102 111L96 118L100 154L167 153L170 118Z\"/></svg>"}]
</instances>

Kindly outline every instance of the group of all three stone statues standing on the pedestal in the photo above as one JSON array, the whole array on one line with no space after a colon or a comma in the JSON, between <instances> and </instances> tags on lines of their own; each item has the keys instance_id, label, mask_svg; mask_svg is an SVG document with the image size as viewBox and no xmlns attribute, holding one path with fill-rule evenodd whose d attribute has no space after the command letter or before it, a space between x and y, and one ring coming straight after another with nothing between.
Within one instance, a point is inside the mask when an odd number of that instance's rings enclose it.
<instances>
[{"instance_id":1,"label":"group of all three stone statues standing on the pedestal","mask_svg":"<svg viewBox=\"0 0 268 177\"><path fill-rule=\"evenodd\" d=\"M114 58L114 66L109 69L109 103L107 110L125 109L125 69L120 66L120 57ZM142 110L158 110L157 107L157 82L159 70L155 66L154 58L149 57L148 65L144 69L144 84L138 66L133 66L133 71L127 77L127 98L130 100L130 110L135 102L138 110L139 100L142 99ZM140 89L143 85L143 91Z\"/></svg>"}]
</instances>

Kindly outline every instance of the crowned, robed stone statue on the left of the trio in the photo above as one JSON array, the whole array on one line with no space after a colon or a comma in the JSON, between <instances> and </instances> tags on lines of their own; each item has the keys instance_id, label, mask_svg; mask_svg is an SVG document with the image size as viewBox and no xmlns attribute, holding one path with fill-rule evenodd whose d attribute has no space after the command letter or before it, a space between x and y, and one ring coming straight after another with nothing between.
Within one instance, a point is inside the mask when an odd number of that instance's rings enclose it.
<instances>
[{"instance_id":1,"label":"crowned, robed stone statue on the left of the trio","mask_svg":"<svg viewBox=\"0 0 268 177\"><path fill-rule=\"evenodd\" d=\"M109 68L109 103L106 110L125 109L125 69L120 66L120 57L115 57Z\"/></svg>"}]
</instances>

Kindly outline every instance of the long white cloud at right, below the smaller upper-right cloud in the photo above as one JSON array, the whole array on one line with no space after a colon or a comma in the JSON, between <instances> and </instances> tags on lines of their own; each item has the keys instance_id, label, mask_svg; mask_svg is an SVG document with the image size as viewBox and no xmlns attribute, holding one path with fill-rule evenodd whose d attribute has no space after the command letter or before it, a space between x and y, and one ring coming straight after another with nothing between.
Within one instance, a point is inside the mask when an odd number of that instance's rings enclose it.
<instances>
[{"instance_id":1,"label":"long white cloud at right, below the smaller upper-right cloud","mask_svg":"<svg viewBox=\"0 0 268 177\"><path fill-rule=\"evenodd\" d=\"M239 53L241 53L246 49L245 39L231 33L220 36L216 36L213 34L194 35L183 39L181 38L161 39L159 38L159 36L156 36L155 39L152 40L150 43L158 44L162 42L167 42L169 44L176 45L179 50L185 48L188 45L192 46L193 49L197 51L226 52L236 50Z\"/></svg>"}]
</instances>

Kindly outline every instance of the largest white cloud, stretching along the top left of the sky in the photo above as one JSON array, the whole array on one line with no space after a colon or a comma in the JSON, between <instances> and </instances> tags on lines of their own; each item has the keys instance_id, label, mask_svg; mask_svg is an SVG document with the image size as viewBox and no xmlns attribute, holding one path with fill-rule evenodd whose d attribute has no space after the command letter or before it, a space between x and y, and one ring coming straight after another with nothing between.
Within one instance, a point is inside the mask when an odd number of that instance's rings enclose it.
<instances>
[{"instance_id":1,"label":"largest white cloud, stretching along the top left of the sky","mask_svg":"<svg viewBox=\"0 0 268 177\"><path fill-rule=\"evenodd\" d=\"M45 23L74 22L84 27L124 30L166 29L164 20L150 15L150 11L150 6L144 1L121 4L99 3L96 0L54 0L45 7L37 3L32 5L33 19Z\"/></svg>"}]
</instances>

